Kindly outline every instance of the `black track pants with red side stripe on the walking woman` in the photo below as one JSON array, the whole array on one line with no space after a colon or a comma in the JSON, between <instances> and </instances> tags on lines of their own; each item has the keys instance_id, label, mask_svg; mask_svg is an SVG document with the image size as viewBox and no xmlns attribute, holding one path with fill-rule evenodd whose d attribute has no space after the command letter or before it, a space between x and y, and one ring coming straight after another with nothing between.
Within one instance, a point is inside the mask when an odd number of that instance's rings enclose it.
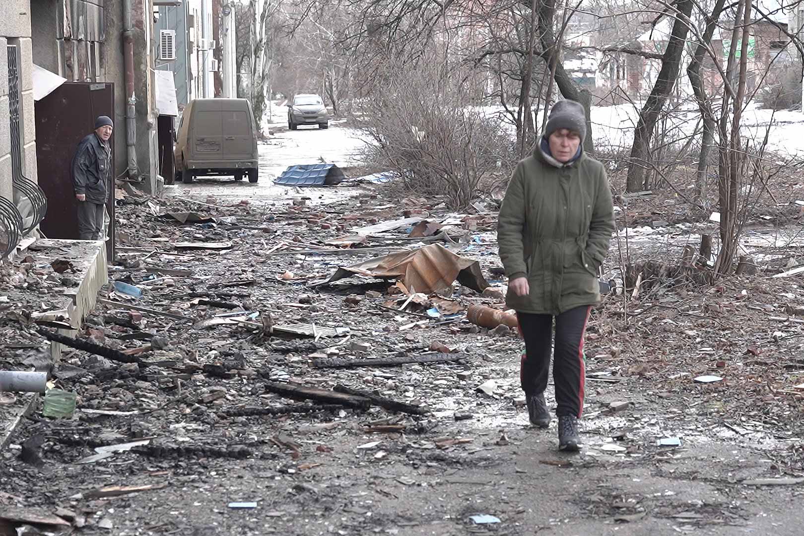
<instances>
[{"instance_id":1,"label":"black track pants with red side stripe on the walking woman","mask_svg":"<svg viewBox=\"0 0 804 536\"><path fill-rule=\"evenodd\" d=\"M583 305L561 313L556 319L556 350L553 380L556 383L556 415L576 415L584 407L584 332L592 308ZM525 339L525 354L519 378L526 395L548 388L553 318L549 314L517 313L519 332Z\"/></svg>"}]
</instances>

